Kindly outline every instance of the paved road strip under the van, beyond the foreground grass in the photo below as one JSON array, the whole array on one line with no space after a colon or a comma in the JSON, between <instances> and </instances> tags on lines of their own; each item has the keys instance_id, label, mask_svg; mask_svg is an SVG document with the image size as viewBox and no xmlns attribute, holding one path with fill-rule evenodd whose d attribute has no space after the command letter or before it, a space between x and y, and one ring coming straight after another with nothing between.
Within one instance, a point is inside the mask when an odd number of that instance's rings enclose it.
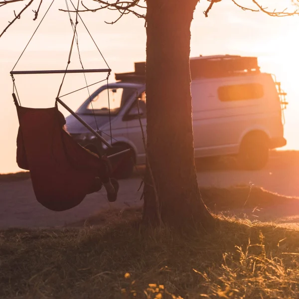
<instances>
[{"instance_id":1,"label":"paved road strip under the van, beyond the foreground grass","mask_svg":"<svg viewBox=\"0 0 299 299\"><path fill-rule=\"evenodd\" d=\"M200 163L199 163L200 164ZM142 173L142 169L140 169ZM65 212L52 212L41 206L34 198L30 179L21 177L0 177L0 228L9 227L61 227L66 224L87 219L100 210L123 209L127 207L141 207L142 191L138 191L141 177L138 173L130 179L120 181L119 199L115 203L109 203L105 192L100 191L88 195L77 207ZM208 167L198 165L197 178L202 190L204 201L211 201L211 197L217 197L215 192L207 192L207 186L229 187L235 185L247 185L243 192L238 193L238 206L222 205L219 203L209 207L217 213L236 214L253 220L274 220L285 225L297 225L299 222L299 153L298 152L273 152L266 168L259 171L243 171L235 169L233 164L227 166L227 161ZM281 205L278 202L271 207L261 209L259 202L255 208L256 193L250 186L263 187L265 190L284 195L281 197ZM218 192L219 193L219 192ZM230 193L226 196L231 198ZM294 200L286 196L295 197ZM229 202L229 198L224 198ZM213 198L212 198L213 199ZM285 201L288 201L286 204ZM246 202L245 207L243 203Z\"/></svg>"}]
</instances>

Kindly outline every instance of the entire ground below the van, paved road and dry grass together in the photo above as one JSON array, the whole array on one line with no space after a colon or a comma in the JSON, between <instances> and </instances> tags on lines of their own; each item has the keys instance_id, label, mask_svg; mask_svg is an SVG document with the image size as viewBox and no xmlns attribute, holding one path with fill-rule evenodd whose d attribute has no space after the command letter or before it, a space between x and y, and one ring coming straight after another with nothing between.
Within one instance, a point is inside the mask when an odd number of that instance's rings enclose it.
<instances>
[{"instance_id":1,"label":"entire ground below the van, paved road and dry grass together","mask_svg":"<svg viewBox=\"0 0 299 299\"><path fill-rule=\"evenodd\" d=\"M28 174L1 175L0 298L299 298L299 153L273 153L261 171L229 165L198 167L219 227L189 234L140 225L137 176L114 206L99 192L57 213Z\"/></svg>"}]
</instances>

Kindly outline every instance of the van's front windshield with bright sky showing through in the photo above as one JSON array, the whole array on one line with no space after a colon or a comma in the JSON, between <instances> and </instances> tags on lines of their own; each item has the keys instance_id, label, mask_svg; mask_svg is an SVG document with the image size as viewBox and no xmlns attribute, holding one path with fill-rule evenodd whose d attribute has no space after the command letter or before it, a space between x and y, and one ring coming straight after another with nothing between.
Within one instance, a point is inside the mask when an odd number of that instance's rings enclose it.
<instances>
[{"instance_id":1,"label":"van's front windshield with bright sky showing through","mask_svg":"<svg viewBox=\"0 0 299 299\"><path fill-rule=\"evenodd\" d=\"M96 95L86 107L86 114L96 115L117 115L120 109L125 105L130 96L133 95L135 89L133 88L109 88L102 90ZM109 94L109 101L108 101Z\"/></svg>"}]
</instances>

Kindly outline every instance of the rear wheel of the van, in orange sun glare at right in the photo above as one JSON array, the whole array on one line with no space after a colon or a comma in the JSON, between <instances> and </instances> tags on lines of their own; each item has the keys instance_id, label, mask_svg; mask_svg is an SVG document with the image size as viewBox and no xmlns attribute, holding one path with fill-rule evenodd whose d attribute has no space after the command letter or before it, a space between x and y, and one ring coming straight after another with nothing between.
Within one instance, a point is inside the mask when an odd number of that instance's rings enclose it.
<instances>
[{"instance_id":1,"label":"rear wheel of the van, in orange sun glare at right","mask_svg":"<svg viewBox=\"0 0 299 299\"><path fill-rule=\"evenodd\" d=\"M248 136L241 144L239 165L246 170L260 170L269 159L269 144L264 136Z\"/></svg>"}]
</instances>

